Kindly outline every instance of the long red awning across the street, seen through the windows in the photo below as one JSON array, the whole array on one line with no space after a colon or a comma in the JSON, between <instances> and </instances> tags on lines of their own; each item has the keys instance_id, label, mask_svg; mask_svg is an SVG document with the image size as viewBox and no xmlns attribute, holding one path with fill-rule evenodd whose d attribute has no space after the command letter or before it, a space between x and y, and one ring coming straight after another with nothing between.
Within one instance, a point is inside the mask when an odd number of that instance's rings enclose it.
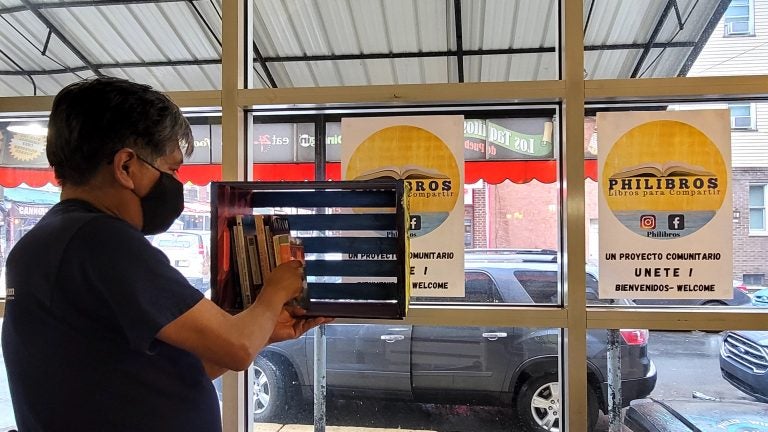
<instances>
[{"instance_id":1,"label":"long red awning across the street, seen through the windows","mask_svg":"<svg viewBox=\"0 0 768 432\"><path fill-rule=\"evenodd\" d=\"M179 170L183 182L198 186L221 180L221 165L184 165ZM516 160L516 161L469 161L464 164L465 183L484 180L499 184L506 180L513 183L554 183L557 180L557 161ZM584 161L584 177L597 181L597 161ZM315 178L313 163L254 164L253 178L256 181L305 181ZM326 179L341 180L341 163L326 165ZM52 169L0 167L0 186L13 188L20 184L41 187L56 184Z\"/></svg>"}]
</instances>

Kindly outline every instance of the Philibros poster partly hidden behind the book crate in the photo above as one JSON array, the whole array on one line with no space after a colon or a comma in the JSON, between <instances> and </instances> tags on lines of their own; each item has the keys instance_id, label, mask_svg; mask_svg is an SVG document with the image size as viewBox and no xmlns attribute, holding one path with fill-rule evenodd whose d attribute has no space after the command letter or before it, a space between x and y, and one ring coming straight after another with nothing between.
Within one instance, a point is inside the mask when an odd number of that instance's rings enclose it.
<instances>
[{"instance_id":1,"label":"Philibros poster partly hidden behind the book crate","mask_svg":"<svg viewBox=\"0 0 768 432\"><path fill-rule=\"evenodd\" d=\"M410 185L411 295L464 295L464 118L346 118L344 180Z\"/></svg>"}]
</instances>

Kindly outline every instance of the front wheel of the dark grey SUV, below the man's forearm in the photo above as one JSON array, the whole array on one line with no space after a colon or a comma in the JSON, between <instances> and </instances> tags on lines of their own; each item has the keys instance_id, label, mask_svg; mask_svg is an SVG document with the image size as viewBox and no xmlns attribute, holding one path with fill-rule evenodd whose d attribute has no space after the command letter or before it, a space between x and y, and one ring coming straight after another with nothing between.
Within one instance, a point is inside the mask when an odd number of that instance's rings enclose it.
<instances>
[{"instance_id":1,"label":"front wheel of the dark grey SUV, below the man's forearm","mask_svg":"<svg viewBox=\"0 0 768 432\"><path fill-rule=\"evenodd\" d=\"M253 420L279 420L287 412L288 387L277 363L256 357L253 362Z\"/></svg>"}]
</instances>

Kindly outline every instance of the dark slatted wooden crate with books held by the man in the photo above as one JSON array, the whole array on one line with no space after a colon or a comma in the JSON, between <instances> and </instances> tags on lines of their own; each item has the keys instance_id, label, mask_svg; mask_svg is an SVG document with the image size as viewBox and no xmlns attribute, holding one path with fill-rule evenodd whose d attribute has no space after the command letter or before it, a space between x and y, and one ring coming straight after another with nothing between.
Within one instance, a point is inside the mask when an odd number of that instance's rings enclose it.
<instances>
[{"instance_id":1,"label":"dark slatted wooden crate with books held by the man","mask_svg":"<svg viewBox=\"0 0 768 432\"><path fill-rule=\"evenodd\" d=\"M269 274L304 261L310 316L401 319L409 291L405 184L214 182L211 299L231 313Z\"/></svg>"}]
</instances>

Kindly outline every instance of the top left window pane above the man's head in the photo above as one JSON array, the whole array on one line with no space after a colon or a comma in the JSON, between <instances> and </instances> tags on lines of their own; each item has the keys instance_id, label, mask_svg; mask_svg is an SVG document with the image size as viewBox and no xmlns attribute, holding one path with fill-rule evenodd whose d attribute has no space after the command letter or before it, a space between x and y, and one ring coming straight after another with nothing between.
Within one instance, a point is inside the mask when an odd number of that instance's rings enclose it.
<instances>
[{"instance_id":1,"label":"top left window pane above the man's head","mask_svg":"<svg viewBox=\"0 0 768 432\"><path fill-rule=\"evenodd\" d=\"M0 96L54 95L98 74L161 91L221 88L220 1L106 3L36 4L47 22L3 14L2 49L15 66L0 76Z\"/></svg>"}]
</instances>

